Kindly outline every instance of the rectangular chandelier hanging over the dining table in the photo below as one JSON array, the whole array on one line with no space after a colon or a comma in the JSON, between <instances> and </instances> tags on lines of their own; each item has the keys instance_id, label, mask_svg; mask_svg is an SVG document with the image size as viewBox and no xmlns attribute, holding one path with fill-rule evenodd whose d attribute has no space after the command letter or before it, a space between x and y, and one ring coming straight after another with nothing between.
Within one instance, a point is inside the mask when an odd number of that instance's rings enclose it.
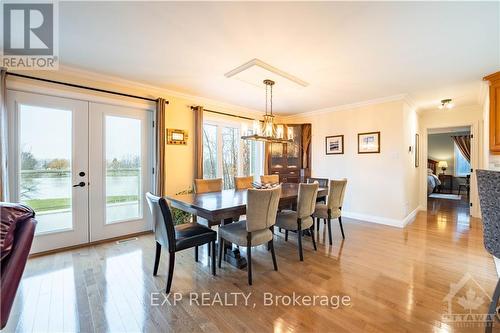
<instances>
[{"instance_id":1,"label":"rectangular chandelier hanging over the dining table","mask_svg":"<svg viewBox=\"0 0 500 333\"><path fill-rule=\"evenodd\" d=\"M276 125L274 123L273 85L275 82L273 80L264 80L263 82L266 86L266 114L264 115L264 120L261 121L260 124L258 121L255 121L252 133L243 133L244 135L241 138L243 140L291 143L293 142L293 129L285 127L285 125Z\"/></svg>"}]
</instances>

